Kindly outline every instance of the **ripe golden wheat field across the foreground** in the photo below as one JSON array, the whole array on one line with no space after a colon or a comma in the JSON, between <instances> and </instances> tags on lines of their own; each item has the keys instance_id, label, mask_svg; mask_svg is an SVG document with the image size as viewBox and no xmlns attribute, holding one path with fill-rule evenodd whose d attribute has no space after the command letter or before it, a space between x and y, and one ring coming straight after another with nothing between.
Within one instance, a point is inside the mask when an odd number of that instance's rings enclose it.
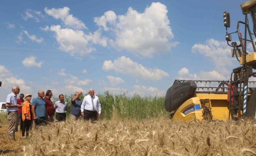
<instances>
[{"instance_id":1,"label":"ripe golden wheat field across the foreground","mask_svg":"<svg viewBox=\"0 0 256 156\"><path fill-rule=\"evenodd\" d=\"M13 144L16 151L11 151ZM1 151L16 156L249 156L256 155L256 122L248 119L198 123L163 117L56 122L32 131L29 138L1 145Z\"/></svg>"}]
</instances>

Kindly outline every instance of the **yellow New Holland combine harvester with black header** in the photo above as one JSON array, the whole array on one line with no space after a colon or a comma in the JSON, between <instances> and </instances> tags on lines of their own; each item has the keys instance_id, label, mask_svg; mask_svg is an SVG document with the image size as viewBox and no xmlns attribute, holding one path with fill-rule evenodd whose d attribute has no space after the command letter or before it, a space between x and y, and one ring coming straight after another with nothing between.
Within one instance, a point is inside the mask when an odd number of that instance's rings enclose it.
<instances>
[{"instance_id":1,"label":"yellow New Holland combine harvester with black header","mask_svg":"<svg viewBox=\"0 0 256 156\"><path fill-rule=\"evenodd\" d=\"M240 5L245 21L238 21L236 31L239 42L231 42L230 14L224 12L224 26L226 27L226 41L232 47L232 57L240 62L240 67L233 69L230 81L201 81L201 80L175 80L165 96L165 109L174 119L182 121L227 120L238 118L255 118L256 91L248 87L255 81L248 81L249 77L256 77L253 69L256 69L256 49L252 35L256 37L256 0L249 0ZM253 34L249 28L248 14L251 14L253 22ZM244 25L244 38L239 25ZM247 39L247 35L249 38ZM231 42L231 44L230 44ZM247 42L252 45L254 52L248 54ZM218 87L198 87L198 83L218 83ZM209 90L209 88L211 90ZM207 91L205 91L205 90Z\"/></svg>"}]
</instances>

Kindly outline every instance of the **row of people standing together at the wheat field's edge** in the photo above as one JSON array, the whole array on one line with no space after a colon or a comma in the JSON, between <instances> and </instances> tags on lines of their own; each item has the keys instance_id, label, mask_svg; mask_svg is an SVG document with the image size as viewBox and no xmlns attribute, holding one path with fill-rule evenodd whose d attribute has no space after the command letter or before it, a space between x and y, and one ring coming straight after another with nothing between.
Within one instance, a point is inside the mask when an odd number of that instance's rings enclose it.
<instances>
[{"instance_id":1,"label":"row of people standing together at the wheat field's edge","mask_svg":"<svg viewBox=\"0 0 256 156\"><path fill-rule=\"evenodd\" d=\"M17 122L19 122L17 120L18 116L20 116L18 115L18 113L20 113L18 112L18 110L21 109L21 106L24 102L24 94L20 94L20 98L17 99L17 94L19 92L20 88L18 86L13 86L12 93L7 95L6 107L8 110L7 118L9 122L7 137L9 139L15 139L15 131L17 131L18 128ZM81 94L83 93L76 92L74 98L71 99L70 119L80 120L82 116L84 118L84 121L90 119L92 121L98 120L101 115L101 106L98 96L96 96L96 94L94 93L94 89L91 88L88 90L88 95L83 98L83 101L80 100ZM28 95L29 97L31 97L30 94ZM66 121L66 112L68 109L68 105L67 102L64 101L63 94L59 95L59 100L56 101L55 104L53 104L53 102L51 101L52 96L53 93L51 90L47 90L46 93L44 92L44 90L39 90L38 96L33 99L31 104L31 120L34 120L35 128L40 125L50 124L51 122L54 122L54 114L57 121ZM25 117L27 116L28 114L25 114Z\"/></svg>"}]
</instances>

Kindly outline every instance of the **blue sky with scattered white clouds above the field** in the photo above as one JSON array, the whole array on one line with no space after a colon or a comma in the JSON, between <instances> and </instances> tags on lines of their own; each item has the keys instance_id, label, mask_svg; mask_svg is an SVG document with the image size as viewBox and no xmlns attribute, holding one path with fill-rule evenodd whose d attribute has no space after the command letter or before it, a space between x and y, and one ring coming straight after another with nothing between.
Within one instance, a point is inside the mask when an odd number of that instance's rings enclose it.
<instances>
[{"instance_id":1,"label":"blue sky with scattered white clouds above the field","mask_svg":"<svg viewBox=\"0 0 256 156\"><path fill-rule=\"evenodd\" d=\"M89 88L165 95L174 79L228 80L239 63L225 42L223 12L235 31L241 3L1 1L0 98L12 85L34 97L39 89L58 96Z\"/></svg>"}]
</instances>

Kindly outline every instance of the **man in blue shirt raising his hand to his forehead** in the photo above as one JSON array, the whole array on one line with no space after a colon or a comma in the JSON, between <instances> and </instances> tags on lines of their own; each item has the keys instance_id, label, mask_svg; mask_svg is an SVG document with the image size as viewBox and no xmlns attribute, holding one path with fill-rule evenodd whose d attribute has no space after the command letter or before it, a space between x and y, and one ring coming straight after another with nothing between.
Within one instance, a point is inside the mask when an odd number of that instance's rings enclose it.
<instances>
[{"instance_id":1,"label":"man in blue shirt raising his hand to his forehead","mask_svg":"<svg viewBox=\"0 0 256 156\"><path fill-rule=\"evenodd\" d=\"M80 95L83 92L76 92L73 99L71 99L71 120L80 120L81 119L81 105L82 101L80 100Z\"/></svg>"}]
</instances>

